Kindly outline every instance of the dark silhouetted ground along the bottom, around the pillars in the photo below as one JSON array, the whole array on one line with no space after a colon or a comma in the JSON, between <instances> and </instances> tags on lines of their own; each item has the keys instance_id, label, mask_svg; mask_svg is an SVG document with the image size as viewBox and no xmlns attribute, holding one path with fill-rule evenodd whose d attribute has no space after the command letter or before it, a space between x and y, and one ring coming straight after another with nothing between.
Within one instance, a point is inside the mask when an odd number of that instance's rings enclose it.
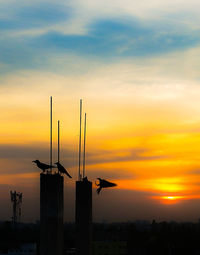
<instances>
[{"instance_id":1,"label":"dark silhouetted ground along the bottom, around the pillars","mask_svg":"<svg viewBox=\"0 0 200 255\"><path fill-rule=\"evenodd\" d=\"M75 225L64 226L65 255L75 254ZM38 254L39 223L0 223L0 254L34 244ZM200 223L136 221L93 224L93 255L200 255Z\"/></svg>"}]
</instances>

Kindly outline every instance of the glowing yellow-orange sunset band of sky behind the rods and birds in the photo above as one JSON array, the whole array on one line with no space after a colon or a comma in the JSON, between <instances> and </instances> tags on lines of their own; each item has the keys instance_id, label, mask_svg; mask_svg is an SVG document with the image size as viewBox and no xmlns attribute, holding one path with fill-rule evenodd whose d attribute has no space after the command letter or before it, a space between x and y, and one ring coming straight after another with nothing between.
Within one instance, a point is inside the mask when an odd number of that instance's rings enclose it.
<instances>
[{"instance_id":1,"label":"glowing yellow-orange sunset band of sky behind the rods and birds","mask_svg":"<svg viewBox=\"0 0 200 255\"><path fill-rule=\"evenodd\" d=\"M47 87L35 90L35 84L41 84L40 80L40 77L38 82L34 80L32 90L13 94L10 100L5 95L0 96L3 109L0 127L2 185L38 183L39 171L32 165L31 158L38 155L41 161L48 162L49 98ZM62 161L76 176L80 95L65 90L65 80L62 89L55 91L54 80L50 82L52 90L49 94L55 97L53 148L57 148L56 119L59 118ZM46 84L49 88L49 81ZM111 180L117 183L117 189L137 191L150 200L151 196L156 196L165 204L199 199L199 101L194 101L194 111L192 101L188 101L187 89L185 97L178 96L176 100L166 98L166 90L160 91L162 95L159 97L165 98L161 102L154 97L157 87L146 93L143 89L140 91L140 86L137 88L139 93L136 90L128 97L123 94L112 97L113 89L112 93L106 94L107 88L96 87L99 88L99 94L96 90L88 94L88 90L84 98L88 114L88 177ZM21 155L16 153L18 149ZM42 149L43 154L38 149Z\"/></svg>"}]
</instances>

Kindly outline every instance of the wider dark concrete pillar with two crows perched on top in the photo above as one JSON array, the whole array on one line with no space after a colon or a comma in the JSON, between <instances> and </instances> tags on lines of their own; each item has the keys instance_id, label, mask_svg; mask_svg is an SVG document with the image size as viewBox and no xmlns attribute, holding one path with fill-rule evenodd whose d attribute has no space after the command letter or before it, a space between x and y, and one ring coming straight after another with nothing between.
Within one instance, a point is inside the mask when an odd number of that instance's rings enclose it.
<instances>
[{"instance_id":1,"label":"wider dark concrete pillar with two crows perched on top","mask_svg":"<svg viewBox=\"0 0 200 255\"><path fill-rule=\"evenodd\" d=\"M40 174L40 255L63 255L63 179Z\"/></svg>"}]
</instances>

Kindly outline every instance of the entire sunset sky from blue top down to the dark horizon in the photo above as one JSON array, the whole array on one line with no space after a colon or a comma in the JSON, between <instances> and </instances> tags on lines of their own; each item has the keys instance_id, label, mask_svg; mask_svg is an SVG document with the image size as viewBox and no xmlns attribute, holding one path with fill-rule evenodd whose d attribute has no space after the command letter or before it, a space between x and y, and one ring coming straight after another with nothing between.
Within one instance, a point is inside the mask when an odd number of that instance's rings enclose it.
<instances>
[{"instance_id":1,"label":"entire sunset sky from blue top down to the dark horizon","mask_svg":"<svg viewBox=\"0 0 200 255\"><path fill-rule=\"evenodd\" d=\"M200 217L200 2L0 0L0 219L10 190L39 219L39 174L57 120L65 221L74 221L79 100L94 221ZM95 179L117 183L99 196Z\"/></svg>"}]
</instances>

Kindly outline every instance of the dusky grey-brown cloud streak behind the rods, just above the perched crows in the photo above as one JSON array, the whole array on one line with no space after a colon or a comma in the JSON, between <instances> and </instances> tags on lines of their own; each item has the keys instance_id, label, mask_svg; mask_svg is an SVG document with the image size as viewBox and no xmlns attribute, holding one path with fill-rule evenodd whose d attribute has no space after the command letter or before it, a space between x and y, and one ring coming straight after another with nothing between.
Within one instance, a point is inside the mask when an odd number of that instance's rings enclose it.
<instances>
[{"instance_id":1,"label":"dusky grey-brown cloud streak behind the rods, just above the perched crows","mask_svg":"<svg viewBox=\"0 0 200 255\"><path fill-rule=\"evenodd\" d=\"M148 156L143 155L149 150L145 148L133 148L126 150L96 150L87 153L87 165L93 166L95 169L98 165L104 165L106 163L117 162L130 162L130 161L144 161L144 160L159 160L164 159L166 156ZM54 149L53 154L56 155ZM48 162L49 148L44 147L41 144L36 145L0 145L0 159L3 160L2 164L9 165L9 172L11 173L24 173L30 172L30 168L33 165L32 160L40 159L43 162ZM11 160L11 161L10 161ZM56 160L56 159L55 159ZM16 163L15 163L16 162ZM69 167L76 167L78 164L78 153L75 149L62 150L62 162ZM21 166L21 170L20 170ZM12 170L11 170L12 169ZM119 171L119 170L118 170Z\"/></svg>"}]
</instances>

